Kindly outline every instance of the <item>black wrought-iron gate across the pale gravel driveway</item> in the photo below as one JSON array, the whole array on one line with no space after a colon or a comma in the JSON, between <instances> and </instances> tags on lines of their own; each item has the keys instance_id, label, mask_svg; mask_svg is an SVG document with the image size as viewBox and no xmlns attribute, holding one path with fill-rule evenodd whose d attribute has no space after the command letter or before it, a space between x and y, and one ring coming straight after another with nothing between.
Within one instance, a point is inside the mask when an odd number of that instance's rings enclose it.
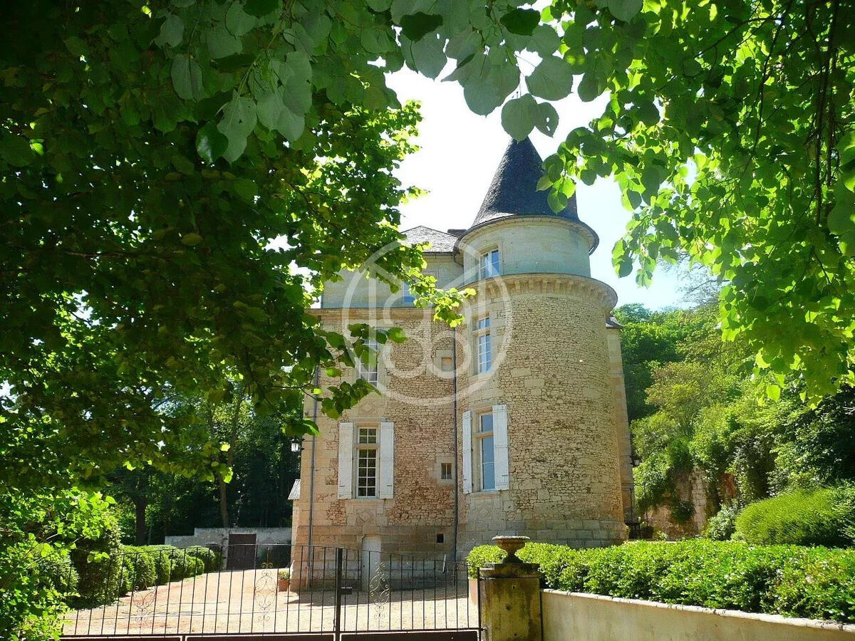
<instances>
[{"instance_id":1,"label":"black wrought-iron gate across the pale gravel driveway","mask_svg":"<svg viewBox=\"0 0 855 641\"><path fill-rule=\"evenodd\" d=\"M141 553L110 559L102 604L77 603L68 612L63 637L373 641L404 632L410 641L479 637L476 579L469 579L465 563L329 547L239 547L218 550L207 561L209 571L192 576L187 574L199 567L190 552L162 550L155 559L158 573L172 579L162 585L147 585L150 576L141 576L145 563L134 556ZM248 569L231 569L230 555L244 563L254 558ZM290 570L288 579L284 570Z\"/></svg>"}]
</instances>

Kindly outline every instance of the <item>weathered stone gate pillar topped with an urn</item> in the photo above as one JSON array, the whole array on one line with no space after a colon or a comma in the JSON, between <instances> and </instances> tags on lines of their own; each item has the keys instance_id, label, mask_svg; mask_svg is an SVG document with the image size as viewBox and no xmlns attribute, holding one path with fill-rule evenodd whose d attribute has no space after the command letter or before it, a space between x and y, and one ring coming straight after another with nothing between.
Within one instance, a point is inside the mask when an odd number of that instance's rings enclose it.
<instances>
[{"instance_id":1,"label":"weathered stone gate pillar topped with an urn","mask_svg":"<svg viewBox=\"0 0 855 641\"><path fill-rule=\"evenodd\" d=\"M479 607L484 641L542 641L540 573L536 563L523 563L516 551L528 537L493 537L508 553L501 563L481 567Z\"/></svg>"}]
</instances>

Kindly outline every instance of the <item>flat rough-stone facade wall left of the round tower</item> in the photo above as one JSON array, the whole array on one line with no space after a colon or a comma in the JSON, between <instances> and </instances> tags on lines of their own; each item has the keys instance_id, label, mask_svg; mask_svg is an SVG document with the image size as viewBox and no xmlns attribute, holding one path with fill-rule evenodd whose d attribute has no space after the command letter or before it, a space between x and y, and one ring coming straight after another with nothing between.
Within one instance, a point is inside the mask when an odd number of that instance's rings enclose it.
<instances>
[{"instance_id":1,"label":"flat rough-stone facade wall left of the round tower","mask_svg":"<svg viewBox=\"0 0 855 641\"><path fill-rule=\"evenodd\" d=\"M451 550L454 517L452 482L439 479L439 464L452 462L453 415L451 372L441 372L441 359L451 356L453 333L431 321L421 309L389 310L391 318L377 321L367 309L313 309L323 326L342 331L348 323L370 322L376 326L400 326L408 336L403 344L381 346L380 381L383 395L372 393L338 420L319 414L320 436L315 440L315 546L328 545L361 550L363 538L380 538L384 552L418 552L443 556ZM427 345L427 347L426 347ZM355 373L345 371L352 381ZM321 373L320 387L341 379ZM312 402L305 411L311 415ZM381 498L338 497L339 422L358 427L394 422L394 496ZM312 443L307 439L301 461L301 493L295 502L294 544L309 542L309 495ZM437 535L443 535L443 543Z\"/></svg>"}]
</instances>

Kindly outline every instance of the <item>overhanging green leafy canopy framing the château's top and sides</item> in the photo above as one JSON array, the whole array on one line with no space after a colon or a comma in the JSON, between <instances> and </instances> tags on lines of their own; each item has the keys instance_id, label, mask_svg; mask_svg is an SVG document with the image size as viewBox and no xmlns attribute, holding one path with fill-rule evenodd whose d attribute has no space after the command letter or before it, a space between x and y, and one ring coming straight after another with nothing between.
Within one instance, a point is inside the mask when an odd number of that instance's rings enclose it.
<instances>
[{"instance_id":1,"label":"overhanging green leafy canopy framing the ch\u00e2teau's top and sides","mask_svg":"<svg viewBox=\"0 0 855 641\"><path fill-rule=\"evenodd\" d=\"M615 177L634 210L621 273L637 262L646 282L657 260L686 255L709 266L726 284L725 334L775 372L772 396L791 368L808 393L852 380L850 9L13 3L0 44L4 469L97 477L175 461L187 448L158 409L169 394L218 400L228 370L275 411L311 393L315 366L352 361L304 308L400 240L412 191L392 169L416 112L384 74L406 64L435 78L449 59L470 109L501 107L516 138L553 132L550 101L574 85L604 96L545 162L553 206L576 179ZM381 260L392 279L421 265L404 245ZM456 299L433 297L439 317ZM328 390L324 409L368 391Z\"/></svg>"}]
</instances>

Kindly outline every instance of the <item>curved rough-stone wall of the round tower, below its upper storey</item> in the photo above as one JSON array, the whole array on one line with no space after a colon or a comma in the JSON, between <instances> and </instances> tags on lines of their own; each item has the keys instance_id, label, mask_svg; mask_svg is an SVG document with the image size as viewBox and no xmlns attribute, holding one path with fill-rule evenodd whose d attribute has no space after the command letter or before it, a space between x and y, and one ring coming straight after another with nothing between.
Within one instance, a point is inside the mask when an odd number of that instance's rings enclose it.
<instances>
[{"instance_id":1,"label":"curved rough-stone wall of the round tower, below its upper storey","mask_svg":"<svg viewBox=\"0 0 855 641\"><path fill-rule=\"evenodd\" d=\"M461 547L496 533L579 547L619 542L621 444L605 327L614 294L581 276L497 281L481 286L468 312L490 315L494 368L461 373L468 395L458 422L467 409L507 404L510 489L465 496Z\"/></svg>"}]
</instances>

